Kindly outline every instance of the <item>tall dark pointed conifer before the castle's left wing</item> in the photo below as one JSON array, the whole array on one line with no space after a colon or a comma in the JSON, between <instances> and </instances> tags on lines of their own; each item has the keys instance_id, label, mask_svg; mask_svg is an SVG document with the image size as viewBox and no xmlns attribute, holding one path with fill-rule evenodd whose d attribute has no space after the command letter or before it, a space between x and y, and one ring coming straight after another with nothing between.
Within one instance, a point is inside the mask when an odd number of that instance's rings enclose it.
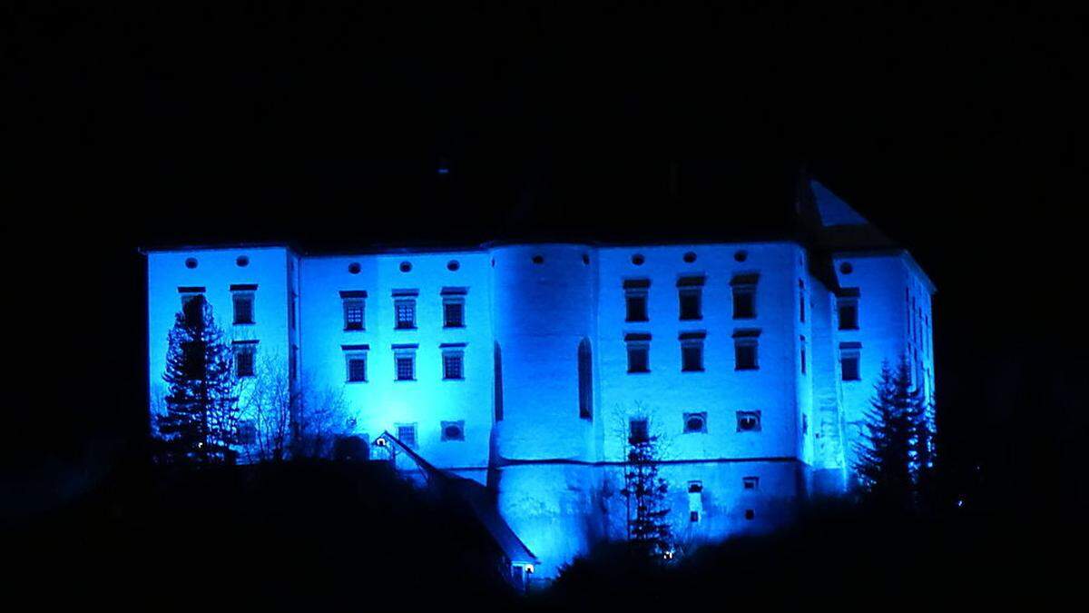
<instances>
[{"instance_id":1,"label":"tall dark pointed conifer before the castle's left wing","mask_svg":"<svg viewBox=\"0 0 1089 613\"><path fill-rule=\"evenodd\" d=\"M168 338L167 410L157 421L167 459L233 464L238 406L231 350L203 296L185 303Z\"/></svg>"}]
</instances>

